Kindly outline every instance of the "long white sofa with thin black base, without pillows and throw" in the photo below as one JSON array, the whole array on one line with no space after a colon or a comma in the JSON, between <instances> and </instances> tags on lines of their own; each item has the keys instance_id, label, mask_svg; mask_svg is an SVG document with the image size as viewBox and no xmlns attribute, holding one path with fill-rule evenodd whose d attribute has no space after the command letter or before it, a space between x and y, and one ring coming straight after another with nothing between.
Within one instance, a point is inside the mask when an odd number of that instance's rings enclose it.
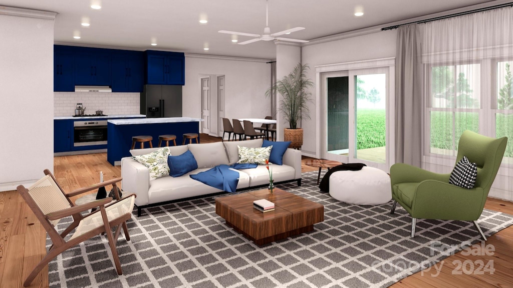
<instances>
[{"instance_id":1,"label":"long white sofa with thin black base, without pillows and throw","mask_svg":"<svg viewBox=\"0 0 513 288\"><path fill-rule=\"evenodd\" d=\"M121 176L123 177L123 190L137 195L135 198L137 216L141 215L141 209L162 204L163 202L223 192L194 180L189 175L198 174L220 164L231 165L236 163L239 160L237 146L262 147L262 139L172 146L170 147L171 155L180 155L190 150L196 162L198 162L198 169L180 177L166 175L151 181L148 168L143 164L137 162L132 157L122 158ZM144 155L157 149L160 148L134 149L130 150L130 153L132 156ZM269 174L265 165L259 165L253 169L235 171L238 171L240 174L237 190L267 186L269 184ZM274 183L297 181L298 186L301 186L301 152L290 148L287 149L283 155L283 165L272 165L272 177Z\"/></svg>"}]
</instances>

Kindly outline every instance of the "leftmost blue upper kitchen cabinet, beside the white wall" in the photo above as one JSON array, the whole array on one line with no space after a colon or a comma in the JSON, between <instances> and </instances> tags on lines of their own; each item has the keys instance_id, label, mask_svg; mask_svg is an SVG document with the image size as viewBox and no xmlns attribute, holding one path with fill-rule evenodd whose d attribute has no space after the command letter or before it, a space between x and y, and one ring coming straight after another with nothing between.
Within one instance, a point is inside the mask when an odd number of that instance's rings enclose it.
<instances>
[{"instance_id":1,"label":"leftmost blue upper kitchen cabinet, beside the white wall","mask_svg":"<svg viewBox=\"0 0 513 288\"><path fill-rule=\"evenodd\" d=\"M68 46L55 45L53 54L53 91L74 91L74 56L72 51Z\"/></svg>"}]
</instances>

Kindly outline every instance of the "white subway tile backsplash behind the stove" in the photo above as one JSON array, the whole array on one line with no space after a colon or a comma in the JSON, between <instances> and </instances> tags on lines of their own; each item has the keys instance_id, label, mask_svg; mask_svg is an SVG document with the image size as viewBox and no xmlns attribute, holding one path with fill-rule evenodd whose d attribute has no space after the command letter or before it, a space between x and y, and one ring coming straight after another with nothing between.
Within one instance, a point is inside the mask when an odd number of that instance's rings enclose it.
<instances>
[{"instance_id":1,"label":"white subway tile backsplash behind the stove","mask_svg":"<svg viewBox=\"0 0 513 288\"><path fill-rule=\"evenodd\" d=\"M105 115L140 114L141 93L54 92L53 116L72 116L77 103L85 114L102 110Z\"/></svg>"}]
</instances>

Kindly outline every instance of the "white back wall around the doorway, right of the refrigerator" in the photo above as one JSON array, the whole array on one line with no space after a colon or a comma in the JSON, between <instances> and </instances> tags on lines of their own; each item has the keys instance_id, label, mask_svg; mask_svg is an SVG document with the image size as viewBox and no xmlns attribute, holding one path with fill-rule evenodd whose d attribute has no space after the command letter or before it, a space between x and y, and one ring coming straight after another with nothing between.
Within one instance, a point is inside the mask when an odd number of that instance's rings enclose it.
<instances>
[{"instance_id":1,"label":"white back wall around the doorway, right of the refrigerator","mask_svg":"<svg viewBox=\"0 0 513 288\"><path fill-rule=\"evenodd\" d=\"M201 118L201 74L225 75L226 118L264 118L271 114L271 100L265 97L271 65L266 60L186 54L186 80L182 90L184 117Z\"/></svg>"}]
</instances>

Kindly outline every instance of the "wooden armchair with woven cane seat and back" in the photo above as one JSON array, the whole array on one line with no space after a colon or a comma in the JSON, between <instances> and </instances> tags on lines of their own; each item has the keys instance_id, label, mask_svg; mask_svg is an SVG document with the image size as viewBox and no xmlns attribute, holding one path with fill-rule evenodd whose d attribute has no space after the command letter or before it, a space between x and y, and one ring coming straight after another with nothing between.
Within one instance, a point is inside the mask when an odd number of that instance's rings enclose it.
<instances>
[{"instance_id":1,"label":"wooden armchair with woven cane seat and back","mask_svg":"<svg viewBox=\"0 0 513 288\"><path fill-rule=\"evenodd\" d=\"M19 185L16 190L25 199L28 206L35 214L37 219L45 228L48 236L52 240L52 245L41 262L39 262L29 274L23 285L27 287L32 280L41 272L41 270L57 255L72 248L73 246L84 242L96 235L105 233L109 240L109 246L112 251L112 258L118 275L122 275L121 262L117 256L116 241L120 235L121 228L125 232L125 238L130 240L126 221L132 216L135 194L120 199L119 190L116 183L122 178L116 178L102 183L94 184L89 187L77 189L70 193L65 193L55 177L48 169L45 169L45 177L38 180L29 189ZM97 190L98 188L112 185L116 201L112 202L111 197L75 205L69 197L80 195L84 192ZM108 204L108 205L107 205ZM82 215L81 212L87 212L93 208L100 208L92 213ZM73 222L61 234L55 229L57 223L64 217L72 216ZM114 235L112 228L116 227ZM75 230L67 240L66 236Z\"/></svg>"}]
</instances>

